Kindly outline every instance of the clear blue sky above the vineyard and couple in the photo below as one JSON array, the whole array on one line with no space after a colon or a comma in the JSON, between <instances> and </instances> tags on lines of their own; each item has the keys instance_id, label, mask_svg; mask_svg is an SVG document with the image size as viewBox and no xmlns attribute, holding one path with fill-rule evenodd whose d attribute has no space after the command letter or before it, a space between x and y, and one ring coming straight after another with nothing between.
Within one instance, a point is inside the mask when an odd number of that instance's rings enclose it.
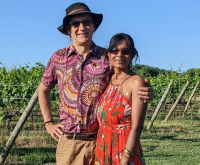
<instances>
[{"instance_id":1,"label":"clear blue sky above the vineyard and couple","mask_svg":"<svg viewBox=\"0 0 200 165\"><path fill-rule=\"evenodd\" d=\"M106 48L123 32L135 42L137 64L182 72L200 68L199 0L0 0L0 62L7 68L46 65L53 52L72 44L57 27L76 2L103 14L93 35L97 45Z\"/></svg>"}]
</instances>

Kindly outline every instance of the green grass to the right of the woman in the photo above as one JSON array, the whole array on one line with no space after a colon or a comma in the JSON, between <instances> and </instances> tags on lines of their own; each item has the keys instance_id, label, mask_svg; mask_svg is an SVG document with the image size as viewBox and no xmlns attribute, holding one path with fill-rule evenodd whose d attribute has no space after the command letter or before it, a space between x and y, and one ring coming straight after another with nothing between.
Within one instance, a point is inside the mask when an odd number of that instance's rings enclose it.
<instances>
[{"instance_id":1,"label":"green grass to the right of the woman","mask_svg":"<svg viewBox=\"0 0 200 165\"><path fill-rule=\"evenodd\" d=\"M148 122L145 122L145 128ZM200 122L191 120L156 121L154 129L144 129L141 144L147 165L200 164ZM162 129L165 128L165 129ZM167 128L167 129L166 129Z\"/></svg>"}]
</instances>

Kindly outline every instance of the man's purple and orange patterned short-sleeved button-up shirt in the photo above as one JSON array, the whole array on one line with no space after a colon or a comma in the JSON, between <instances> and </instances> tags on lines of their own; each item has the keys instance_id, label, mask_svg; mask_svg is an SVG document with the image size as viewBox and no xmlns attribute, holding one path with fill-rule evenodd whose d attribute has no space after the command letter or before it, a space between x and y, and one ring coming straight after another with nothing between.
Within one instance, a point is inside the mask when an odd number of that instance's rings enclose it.
<instances>
[{"instance_id":1,"label":"man's purple and orange patterned short-sleeved button-up shirt","mask_svg":"<svg viewBox=\"0 0 200 165\"><path fill-rule=\"evenodd\" d=\"M42 82L52 89L58 84L59 118L64 132L96 132L98 101L111 74L105 49L92 42L84 61L73 45L52 54Z\"/></svg>"}]
</instances>

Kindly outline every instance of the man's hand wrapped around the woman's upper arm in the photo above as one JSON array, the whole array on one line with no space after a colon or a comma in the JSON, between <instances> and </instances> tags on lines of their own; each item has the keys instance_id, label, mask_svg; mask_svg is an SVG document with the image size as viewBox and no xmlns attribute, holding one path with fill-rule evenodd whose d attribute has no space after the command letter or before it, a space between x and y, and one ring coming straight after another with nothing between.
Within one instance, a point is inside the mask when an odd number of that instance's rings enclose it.
<instances>
[{"instance_id":1,"label":"man's hand wrapped around the woman's upper arm","mask_svg":"<svg viewBox=\"0 0 200 165\"><path fill-rule=\"evenodd\" d=\"M139 94L139 97L144 100L144 103L149 103L153 100L155 94L150 82L147 79L144 81L146 82L147 87L140 87L137 93Z\"/></svg>"}]
</instances>

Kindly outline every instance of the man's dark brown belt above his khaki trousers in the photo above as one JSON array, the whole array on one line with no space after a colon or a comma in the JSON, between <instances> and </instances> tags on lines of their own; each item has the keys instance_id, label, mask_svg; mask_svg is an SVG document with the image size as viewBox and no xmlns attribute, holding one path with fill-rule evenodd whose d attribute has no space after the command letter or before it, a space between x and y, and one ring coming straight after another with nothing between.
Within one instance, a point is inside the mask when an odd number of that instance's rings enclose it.
<instances>
[{"instance_id":1,"label":"man's dark brown belt above his khaki trousers","mask_svg":"<svg viewBox=\"0 0 200 165\"><path fill-rule=\"evenodd\" d=\"M92 140L96 139L97 133L64 133L67 139L74 139L74 140Z\"/></svg>"}]
</instances>

